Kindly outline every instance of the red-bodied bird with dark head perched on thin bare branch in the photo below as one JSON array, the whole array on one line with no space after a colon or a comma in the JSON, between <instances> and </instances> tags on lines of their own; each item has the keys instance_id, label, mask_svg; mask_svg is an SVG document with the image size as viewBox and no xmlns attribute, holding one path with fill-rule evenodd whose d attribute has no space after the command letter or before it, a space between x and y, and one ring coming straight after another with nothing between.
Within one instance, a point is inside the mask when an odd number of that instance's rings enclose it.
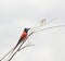
<instances>
[{"instance_id":1,"label":"red-bodied bird with dark head perched on thin bare branch","mask_svg":"<svg viewBox=\"0 0 65 61\"><path fill-rule=\"evenodd\" d=\"M20 37L20 39L18 39L18 41L17 41L17 44L16 44L16 46L14 47L14 49L13 50L15 50L16 49L16 47L21 44L21 42L23 42L24 44L24 39L27 37L27 34L28 34L28 30L29 30L30 28L24 28L24 32L22 33L22 35L21 35L21 37Z\"/></svg>"}]
</instances>

